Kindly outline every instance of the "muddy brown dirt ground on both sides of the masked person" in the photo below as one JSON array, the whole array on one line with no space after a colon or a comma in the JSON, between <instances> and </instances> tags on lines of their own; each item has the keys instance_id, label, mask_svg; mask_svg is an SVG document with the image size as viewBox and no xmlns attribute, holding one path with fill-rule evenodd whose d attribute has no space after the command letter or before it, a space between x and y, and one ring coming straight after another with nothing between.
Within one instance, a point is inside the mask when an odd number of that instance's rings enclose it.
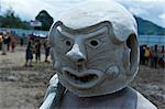
<instances>
[{"instance_id":1,"label":"muddy brown dirt ground on both sides of the masked person","mask_svg":"<svg viewBox=\"0 0 165 109\"><path fill-rule=\"evenodd\" d=\"M38 109L47 83L55 74L52 64L33 62L34 67L24 67L25 47L16 47L14 53L0 52L0 109ZM165 109L165 69L140 66L131 86L148 100Z\"/></svg>"}]
</instances>

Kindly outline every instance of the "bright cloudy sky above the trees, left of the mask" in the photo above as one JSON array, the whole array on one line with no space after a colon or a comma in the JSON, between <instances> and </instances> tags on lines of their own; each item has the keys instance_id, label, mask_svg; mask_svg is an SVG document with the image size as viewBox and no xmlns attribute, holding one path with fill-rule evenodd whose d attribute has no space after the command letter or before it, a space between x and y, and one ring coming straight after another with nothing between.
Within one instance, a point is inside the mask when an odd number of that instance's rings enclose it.
<instances>
[{"instance_id":1,"label":"bright cloudy sky above the trees, left of the mask","mask_svg":"<svg viewBox=\"0 0 165 109\"><path fill-rule=\"evenodd\" d=\"M81 0L0 0L3 12L12 8L23 20L34 20L41 10L46 10L53 18L73 3Z\"/></svg>"}]
</instances>

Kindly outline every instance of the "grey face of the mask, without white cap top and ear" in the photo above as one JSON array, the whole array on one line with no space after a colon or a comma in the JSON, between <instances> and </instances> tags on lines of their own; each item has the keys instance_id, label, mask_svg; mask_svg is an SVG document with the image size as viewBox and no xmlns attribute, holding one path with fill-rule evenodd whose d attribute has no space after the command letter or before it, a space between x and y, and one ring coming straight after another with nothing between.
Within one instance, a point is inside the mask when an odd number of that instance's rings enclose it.
<instances>
[{"instance_id":1,"label":"grey face of the mask, without white cap top and ear","mask_svg":"<svg viewBox=\"0 0 165 109\"><path fill-rule=\"evenodd\" d=\"M54 68L61 84L80 97L111 94L132 80L127 42L116 44L112 26L101 22L73 30L62 22L51 31Z\"/></svg>"}]
</instances>

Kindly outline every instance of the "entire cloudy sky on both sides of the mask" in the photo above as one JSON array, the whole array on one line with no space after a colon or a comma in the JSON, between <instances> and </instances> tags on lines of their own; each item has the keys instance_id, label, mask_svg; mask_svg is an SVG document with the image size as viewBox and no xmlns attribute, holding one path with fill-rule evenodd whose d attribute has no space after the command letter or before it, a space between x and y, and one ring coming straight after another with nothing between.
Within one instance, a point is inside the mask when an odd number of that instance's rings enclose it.
<instances>
[{"instance_id":1,"label":"entire cloudy sky on both sides of the mask","mask_svg":"<svg viewBox=\"0 0 165 109\"><path fill-rule=\"evenodd\" d=\"M22 20L34 20L41 10L54 19L70 4L87 0L0 0L0 14L12 8ZM130 12L165 28L165 0L116 0Z\"/></svg>"}]
</instances>

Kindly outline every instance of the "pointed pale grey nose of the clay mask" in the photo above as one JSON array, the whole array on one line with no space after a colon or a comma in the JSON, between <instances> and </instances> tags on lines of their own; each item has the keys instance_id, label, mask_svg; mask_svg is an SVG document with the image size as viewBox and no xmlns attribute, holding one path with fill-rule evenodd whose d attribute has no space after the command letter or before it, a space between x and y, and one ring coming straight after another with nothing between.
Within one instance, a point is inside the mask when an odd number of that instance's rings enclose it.
<instances>
[{"instance_id":1,"label":"pointed pale grey nose of the clay mask","mask_svg":"<svg viewBox=\"0 0 165 109\"><path fill-rule=\"evenodd\" d=\"M78 44L74 44L73 48L67 52L66 55L77 64L82 64L87 59L82 53L82 50L80 51L80 46Z\"/></svg>"}]
</instances>

